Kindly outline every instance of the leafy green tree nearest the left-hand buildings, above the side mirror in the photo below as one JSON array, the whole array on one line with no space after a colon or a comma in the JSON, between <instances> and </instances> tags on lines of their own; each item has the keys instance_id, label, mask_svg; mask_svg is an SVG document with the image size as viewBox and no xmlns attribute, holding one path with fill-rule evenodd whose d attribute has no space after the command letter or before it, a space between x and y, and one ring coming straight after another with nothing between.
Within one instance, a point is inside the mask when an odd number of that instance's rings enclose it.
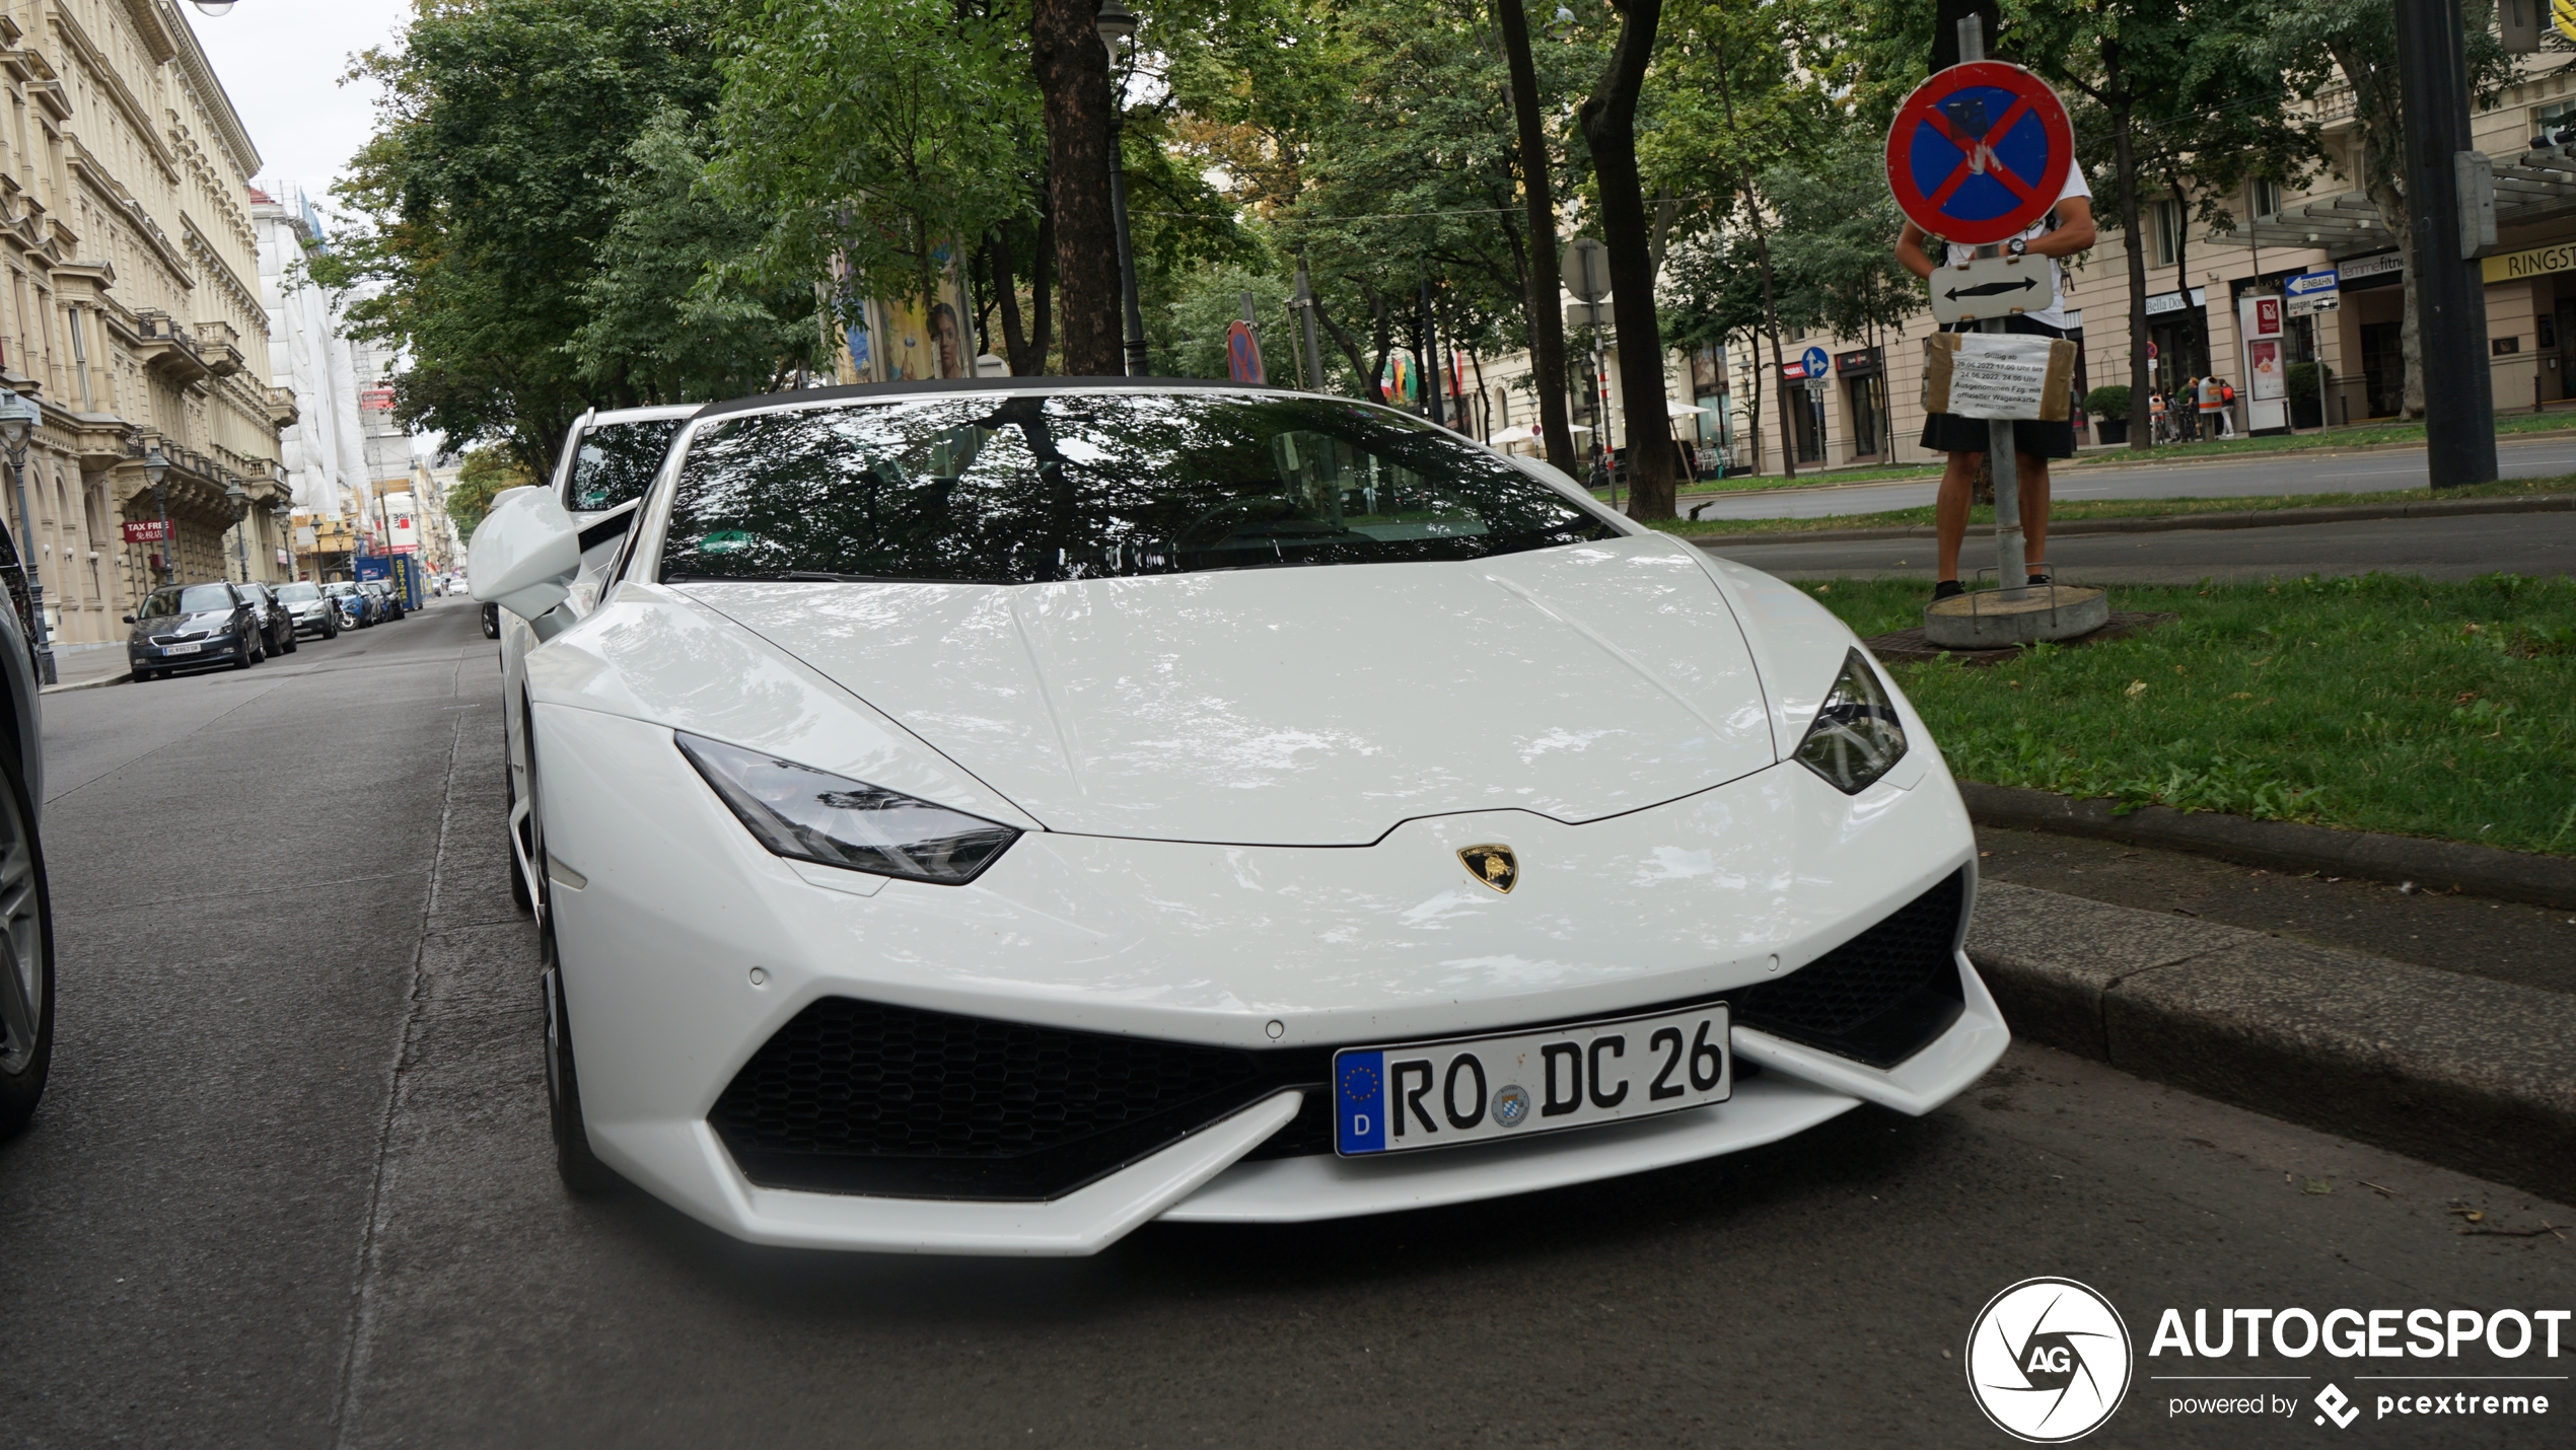
<instances>
[{"instance_id":1,"label":"leafy green tree nearest the left-hand buildings, above the side mirror","mask_svg":"<svg viewBox=\"0 0 2576 1450\"><path fill-rule=\"evenodd\" d=\"M592 373L567 343L590 322L587 278L616 229L629 144L665 108L714 108L724 8L430 5L394 46L358 57L384 98L335 196L363 227L309 265L355 294L353 335L410 355L402 425L502 443L544 471L582 410L644 397L649 379Z\"/></svg>"}]
</instances>

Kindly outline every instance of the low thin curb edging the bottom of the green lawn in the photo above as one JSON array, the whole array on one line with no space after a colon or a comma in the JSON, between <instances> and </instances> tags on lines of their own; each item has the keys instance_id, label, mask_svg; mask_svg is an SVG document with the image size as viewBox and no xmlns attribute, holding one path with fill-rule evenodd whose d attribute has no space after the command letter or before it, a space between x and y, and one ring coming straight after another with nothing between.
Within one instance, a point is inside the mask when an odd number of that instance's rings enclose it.
<instances>
[{"instance_id":1,"label":"low thin curb edging the bottom of the green lawn","mask_svg":"<svg viewBox=\"0 0 2576 1450\"><path fill-rule=\"evenodd\" d=\"M2020 786L1958 783L1968 819L1981 827L2058 832L2125 845L2215 855L2269 871L2324 871L2370 881L2414 881L2432 891L2468 891L2496 901L2576 909L2576 860L2452 840L2339 832L2295 822L2249 822L2215 811L2143 806L2125 816L2112 801L2076 801Z\"/></svg>"}]
</instances>

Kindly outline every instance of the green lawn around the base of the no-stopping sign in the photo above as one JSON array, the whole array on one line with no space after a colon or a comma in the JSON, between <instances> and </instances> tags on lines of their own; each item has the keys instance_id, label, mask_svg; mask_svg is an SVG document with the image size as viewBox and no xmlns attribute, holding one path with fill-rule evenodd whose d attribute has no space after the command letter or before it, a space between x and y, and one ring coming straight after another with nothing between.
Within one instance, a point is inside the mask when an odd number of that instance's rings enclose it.
<instances>
[{"instance_id":1,"label":"green lawn around the base of the no-stopping sign","mask_svg":"<svg viewBox=\"0 0 2576 1450\"><path fill-rule=\"evenodd\" d=\"M1801 585L1862 636L1919 582ZM2576 855L2576 582L2367 574L2112 590L2182 618L1896 664L1960 780Z\"/></svg>"}]
</instances>

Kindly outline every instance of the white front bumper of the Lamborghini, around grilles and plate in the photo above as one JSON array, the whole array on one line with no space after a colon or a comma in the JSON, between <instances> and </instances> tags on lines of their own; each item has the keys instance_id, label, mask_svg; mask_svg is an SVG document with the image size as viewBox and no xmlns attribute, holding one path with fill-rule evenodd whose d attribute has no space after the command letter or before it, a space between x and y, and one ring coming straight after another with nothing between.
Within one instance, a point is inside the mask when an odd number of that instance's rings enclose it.
<instances>
[{"instance_id":1,"label":"white front bumper of the Lamborghini, around grilles and plate","mask_svg":"<svg viewBox=\"0 0 2576 1450\"><path fill-rule=\"evenodd\" d=\"M2007 1046L1953 945L1960 1012L1929 1046L1875 1069L1736 1025L1734 1051L1762 1074L1669 1118L1381 1162L1252 1159L1303 1107L1283 1087L1048 1200L760 1187L708 1113L819 999L1242 1051L1574 1022L1793 974L1973 876L1973 834L1919 744L1857 798L1777 765L1587 827L1481 811L1347 850L1041 832L974 886L938 889L768 855L667 729L564 708L536 724L590 1141L760 1244L1087 1254L1151 1218L1309 1221L1528 1192L1770 1144L1860 1102L1929 1113ZM1455 865L1458 845L1484 840L1522 852L1512 896Z\"/></svg>"}]
</instances>

